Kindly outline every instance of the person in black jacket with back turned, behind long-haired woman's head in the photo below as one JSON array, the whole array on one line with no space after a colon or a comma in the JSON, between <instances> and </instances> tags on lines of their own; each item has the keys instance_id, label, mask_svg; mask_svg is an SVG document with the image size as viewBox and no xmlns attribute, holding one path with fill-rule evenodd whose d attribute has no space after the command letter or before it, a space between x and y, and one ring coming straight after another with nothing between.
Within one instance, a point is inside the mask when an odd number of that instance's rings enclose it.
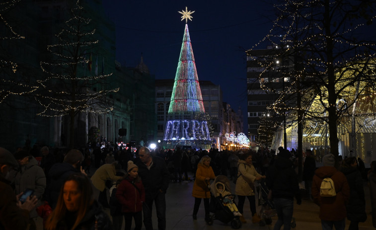
<instances>
[{"instance_id":1,"label":"person in black jacket with back turned, behind long-haired woman's head","mask_svg":"<svg viewBox=\"0 0 376 230\"><path fill-rule=\"evenodd\" d=\"M46 200L52 209L56 207L60 189L64 181L71 174L80 172L83 155L78 150L71 150L67 153L63 163L56 163L50 169L48 178L50 184L46 189Z\"/></svg>"}]
</instances>

